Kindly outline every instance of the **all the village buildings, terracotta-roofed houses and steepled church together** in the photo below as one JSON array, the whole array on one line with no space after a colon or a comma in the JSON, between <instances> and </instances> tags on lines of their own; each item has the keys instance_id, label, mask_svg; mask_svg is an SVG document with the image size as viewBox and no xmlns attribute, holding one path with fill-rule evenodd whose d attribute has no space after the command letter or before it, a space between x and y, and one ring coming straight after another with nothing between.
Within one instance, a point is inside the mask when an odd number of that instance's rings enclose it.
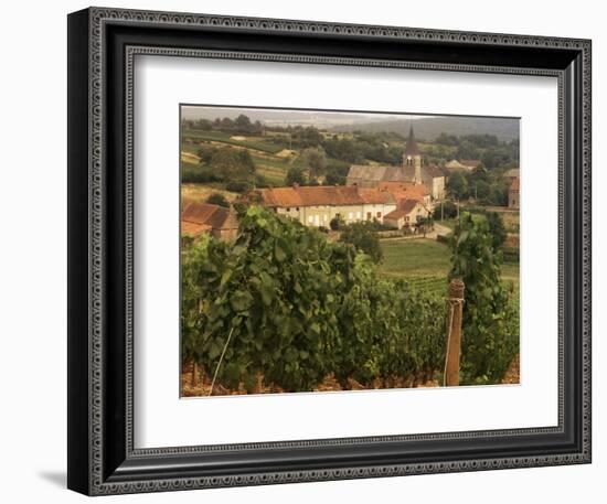
<instances>
[{"instance_id":1,"label":"all the village buildings, terracotta-roofed houses and steepled church together","mask_svg":"<svg viewBox=\"0 0 607 504\"><path fill-rule=\"evenodd\" d=\"M479 160L452 160L449 171L472 171ZM519 171L507 173L510 180L508 206L519 207ZM353 164L347 185L267 187L246 197L289 216L306 226L331 226L338 218L347 224L376 221L395 229L415 227L430 215L437 201L445 199L445 174L439 167L424 164L413 128L400 165ZM184 206L181 234L199 236L210 233L223 239L236 236L238 222L233 208L192 202Z\"/></svg>"}]
</instances>

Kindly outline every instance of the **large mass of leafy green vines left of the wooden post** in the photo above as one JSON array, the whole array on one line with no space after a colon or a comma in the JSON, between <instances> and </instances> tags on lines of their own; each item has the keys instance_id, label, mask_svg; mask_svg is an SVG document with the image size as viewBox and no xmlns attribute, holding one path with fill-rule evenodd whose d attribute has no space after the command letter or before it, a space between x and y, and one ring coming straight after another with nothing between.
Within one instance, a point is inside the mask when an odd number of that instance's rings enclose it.
<instances>
[{"instance_id":1,"label":"large mass of leafy green vines left of the wooden post","mask_svg":"<svg viewBox=\"0 0 607 504\"><path fill-rule=\"evenodd\" d=\"M440 369L443 296L382 279L364 254L252 206L236 242L207 235L183 261L184 357L231 387L259 374L286 392ZM230 344L226 345L228 335Z\"/></svg>"}]
</instances>

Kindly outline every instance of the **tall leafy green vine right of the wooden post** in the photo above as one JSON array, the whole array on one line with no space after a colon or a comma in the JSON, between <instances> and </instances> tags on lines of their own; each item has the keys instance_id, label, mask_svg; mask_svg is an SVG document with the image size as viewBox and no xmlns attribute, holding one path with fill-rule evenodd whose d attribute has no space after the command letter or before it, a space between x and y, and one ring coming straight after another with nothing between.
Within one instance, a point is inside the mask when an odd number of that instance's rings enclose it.
<instances>
[{"instance_id":1,"label":"tall leafy green vine right of the wooden post","mask_svg":"<svg viewBox=\"0 0 607 504\"><path fill-rule=\"evenodd\" d=\"M501 255L486 218L461 214L450 240L449 278L466 285L462 339L462 382L496 383L512 362L519 345L517 303L501 281Z\"/></svg>"}]
</instances>

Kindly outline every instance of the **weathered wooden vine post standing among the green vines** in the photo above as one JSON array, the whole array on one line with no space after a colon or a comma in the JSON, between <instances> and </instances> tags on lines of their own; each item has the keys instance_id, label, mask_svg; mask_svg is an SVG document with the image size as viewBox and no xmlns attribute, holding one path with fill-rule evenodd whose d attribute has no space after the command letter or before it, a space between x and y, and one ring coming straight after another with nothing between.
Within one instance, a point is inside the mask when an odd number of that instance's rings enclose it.
<instances>
[{"instance_id":1,"label":"weathered wooden vine post standing among the green vines","mask_svg":"<svg viewBox=\"0 0 607 504\"><path fill-rule=\"evenodd\" d=\"M459 356L461 353L461 319L464 313L464 282L454 278L447 294L447 352L445 354L444 385L459 385Z\"/></svg>"}]
</instances>

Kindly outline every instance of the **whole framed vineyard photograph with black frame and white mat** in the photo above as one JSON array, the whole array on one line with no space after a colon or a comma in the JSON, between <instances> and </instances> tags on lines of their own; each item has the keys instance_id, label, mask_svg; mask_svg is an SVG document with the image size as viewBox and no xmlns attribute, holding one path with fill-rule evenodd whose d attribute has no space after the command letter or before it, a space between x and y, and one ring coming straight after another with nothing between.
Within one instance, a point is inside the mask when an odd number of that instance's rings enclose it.
<instances>
[{"instance_id":1,"label":"whole framed vineyard photograph with black frame and white mat","mask_svg":"<svg viewBox=\"0 0 607 504\"><path fill-rule=\"evenodd\" d=\"M590 462L590 41L68 17L68 487Z\"/></svg>"}]
</instances>

